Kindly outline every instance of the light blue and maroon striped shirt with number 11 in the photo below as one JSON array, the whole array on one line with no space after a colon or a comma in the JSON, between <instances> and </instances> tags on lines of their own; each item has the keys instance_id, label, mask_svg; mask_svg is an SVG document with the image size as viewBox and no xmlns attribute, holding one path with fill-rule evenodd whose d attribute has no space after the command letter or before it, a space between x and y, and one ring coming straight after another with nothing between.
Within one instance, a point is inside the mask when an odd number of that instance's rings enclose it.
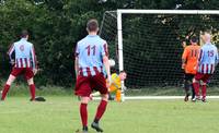
<instances>
[{"instance_id":1,"label":"light blue and maroon striped shirt with number 11","mask_svg":"<svg viewBox=\"0 0 219 133\"><path fill-rule=\"evenodd\" d=\"M79 74L89 76L103 72L102 56L108 55L106 49L106 41L97 35L88 35L80 40L76 51L76 55L80 59Z\"/></svg>"}]
</instances>

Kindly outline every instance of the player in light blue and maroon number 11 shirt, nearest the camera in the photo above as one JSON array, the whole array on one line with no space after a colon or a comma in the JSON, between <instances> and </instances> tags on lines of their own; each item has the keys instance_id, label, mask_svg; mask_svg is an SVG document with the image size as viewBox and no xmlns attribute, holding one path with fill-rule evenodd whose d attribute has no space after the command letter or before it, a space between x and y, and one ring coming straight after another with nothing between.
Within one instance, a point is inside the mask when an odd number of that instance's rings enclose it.
<instances>
[{"instance_id":1,"label":"player in light blue and maroon number 11 shirt, nearest the camera","mask_svg":"<svg viewBox=\"0 0 219 133\"><path fill-rule=\"evenodd\" d=\"M99 23L96 20L90 20L87 24L89 35L78 41L76 48L74 68L77 74L74 94L81 97L80 116L82 121L82 132L88 133L88 102L90 95L95 88L101 93L102 100L96 110L95 118L91 128L96 132L103 132L99 121L104 114L108 100L108 89L106 80L103 75L103 66L107 73L107 82L111 83L111 71L108 63L107 44L100 36Z\"/></svg>"}]
</instances>

